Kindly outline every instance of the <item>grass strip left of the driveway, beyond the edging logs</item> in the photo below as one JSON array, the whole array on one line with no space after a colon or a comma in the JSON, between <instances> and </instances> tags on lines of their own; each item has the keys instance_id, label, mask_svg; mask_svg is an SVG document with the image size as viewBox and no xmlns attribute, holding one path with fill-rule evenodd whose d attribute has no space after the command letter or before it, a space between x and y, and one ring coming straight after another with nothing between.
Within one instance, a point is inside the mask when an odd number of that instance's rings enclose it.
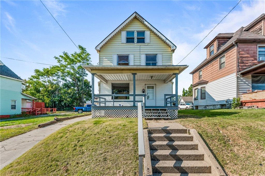
<instances>
[{"instance_id":1,"label":"grass strip left of the driveway, beyond the edging logs","mask_svg":"<svg viewBox=\"0 0 265 176\"><path fill-rule=\"evenodd\" d=\"M76 113L56 115L56 117L71 117L78 115ZM21 135L38 128L38 124L52 121L55 115L46 117L24 117L23 119L14 119L0 122L0 141L7 140L11 137Z\"/></svg>"}]
</instances>

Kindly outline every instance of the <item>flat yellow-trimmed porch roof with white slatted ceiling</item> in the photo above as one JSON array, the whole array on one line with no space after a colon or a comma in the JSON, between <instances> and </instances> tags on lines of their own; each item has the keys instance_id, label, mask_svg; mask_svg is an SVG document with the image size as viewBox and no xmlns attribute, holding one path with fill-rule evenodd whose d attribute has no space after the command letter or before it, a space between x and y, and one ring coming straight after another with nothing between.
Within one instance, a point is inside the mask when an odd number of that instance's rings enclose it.
<instances>
[{"instance_id":1,"label":"flat yellow-trimmed porch roof with white slatted ceiling","mask_svg":"<svg viewBox=\"0 0 265 176\"><path fill-rule=\"evenodd\" d=\"M100 81L107 83L108 80L133 81L132 73L136 73L135 80L164 80L165 83L180 74L187 65L171 66L104 66L104 65L83 65L90 73Z\"/></svg>"}]
</instances>

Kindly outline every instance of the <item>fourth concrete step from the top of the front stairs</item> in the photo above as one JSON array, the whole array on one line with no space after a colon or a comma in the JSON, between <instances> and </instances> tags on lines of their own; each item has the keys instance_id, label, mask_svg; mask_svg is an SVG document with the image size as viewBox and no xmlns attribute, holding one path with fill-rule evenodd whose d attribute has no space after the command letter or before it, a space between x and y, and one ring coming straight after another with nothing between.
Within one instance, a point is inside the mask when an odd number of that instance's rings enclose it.
<instances>
[{"instance_id":1,"label":"fourth concrete step from the top of the front stairs","mask_svg":"<svg viewBox=\"0 0 265 176\"><path fill-rule=\"evenodd\" d=\"M203 161L204 154L198 150L150 150L154 161Z\"/></svg>"}]
</instances>

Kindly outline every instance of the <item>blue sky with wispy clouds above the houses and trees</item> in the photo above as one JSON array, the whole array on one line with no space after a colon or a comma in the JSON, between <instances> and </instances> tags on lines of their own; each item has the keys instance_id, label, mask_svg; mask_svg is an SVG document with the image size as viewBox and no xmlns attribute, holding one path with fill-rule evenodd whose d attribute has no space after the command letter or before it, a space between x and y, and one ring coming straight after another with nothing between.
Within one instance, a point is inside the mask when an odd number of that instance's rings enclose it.
<instances>
[{"instance_id":1,"label":"blue sky with wispy clouds above the houses and trees","mask_svg":"<svg viewBox=\"0 0 265 176\"><path fill-rule=\"evenodd\" d=\"M43 1L64 30L98 62L95 46L137 11L177 49L177 64L231 10L238 1ZM1 56L56 64L55 55L77 50L40 1L1 1ZM184 61L189 68L179 75L179 94L192 84L193 70L206 57L203 49L218 33L235 32L265 13L264 1L241 1L225 20ZM1 58L23 79L41 64ZM91 80L91 76L88 77ZM97 81L97 80L96 80ZM95 84L97 85L97 84ZM96 89L97 90L97 89Z\"/></svg>"}]
</instances>

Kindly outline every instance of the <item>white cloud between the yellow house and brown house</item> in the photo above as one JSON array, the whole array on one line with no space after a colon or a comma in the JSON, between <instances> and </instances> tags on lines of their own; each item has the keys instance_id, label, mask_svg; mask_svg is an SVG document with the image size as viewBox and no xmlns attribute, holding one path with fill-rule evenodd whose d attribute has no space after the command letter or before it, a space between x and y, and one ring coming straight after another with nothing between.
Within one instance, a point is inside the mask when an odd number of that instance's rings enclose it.
<instances>
[{"instance_id":1,"label":"white cloud between the yellow house and brown house","mask_svg":"<svg viewBox=\"0 0 265 176\"><path fill-rule=\"evenodd\" d=\"M188 55L181 63L183 65L189 65L189 67L180 74L178 80L178 94L182 94L183 87L188 89L192 84L192 75L189 74L198 64L200 64L206 58L206 50L203 49L207 43L209 43L218 33L231 33L237 31L241 26L246 26L259 15L264 13L265 1L253 1L245 3L241 1L240 4L214 29L214 31L195 49ZM217 23L228 12L220 13L220 15L214 20ZM169 31L169 39L177 45L177 49L173 54L173 64L177 64L181 61L197 44L202 40L217 24L203 24L209 26L205 30L195 33L190 38L185 38L185 41L180 41L178 36L175 36L176 31ZM174 80L173 80L174 81Z\"/></svg>"}]
</instances>

